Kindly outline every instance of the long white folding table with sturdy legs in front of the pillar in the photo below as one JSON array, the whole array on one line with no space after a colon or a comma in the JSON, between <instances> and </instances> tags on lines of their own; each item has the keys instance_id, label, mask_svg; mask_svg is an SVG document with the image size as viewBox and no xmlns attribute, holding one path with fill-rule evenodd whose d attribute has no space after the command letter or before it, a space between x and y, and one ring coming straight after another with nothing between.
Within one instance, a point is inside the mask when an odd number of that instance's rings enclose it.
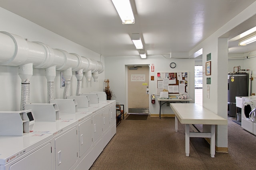
<instances>
[{"instance_id":1,"label":"long white folding table with sturdy legs in front of the pillar","mask_svg":"<svg viewBox=\"0 0 256 170\"><path fill-rule=\"evenodd\" d=\"M210 154L215 155L215 125L227 125L228 120L217 115L216 113L202 107L198 104L173 103L170 107L175 113L175 131L178 131L178 120L185 124L185 150L186 156L189 156L190 137L210 138ZM211 125L211 132L190 132L190 125L203 124Z\"/></svg>"}]
</instances>

